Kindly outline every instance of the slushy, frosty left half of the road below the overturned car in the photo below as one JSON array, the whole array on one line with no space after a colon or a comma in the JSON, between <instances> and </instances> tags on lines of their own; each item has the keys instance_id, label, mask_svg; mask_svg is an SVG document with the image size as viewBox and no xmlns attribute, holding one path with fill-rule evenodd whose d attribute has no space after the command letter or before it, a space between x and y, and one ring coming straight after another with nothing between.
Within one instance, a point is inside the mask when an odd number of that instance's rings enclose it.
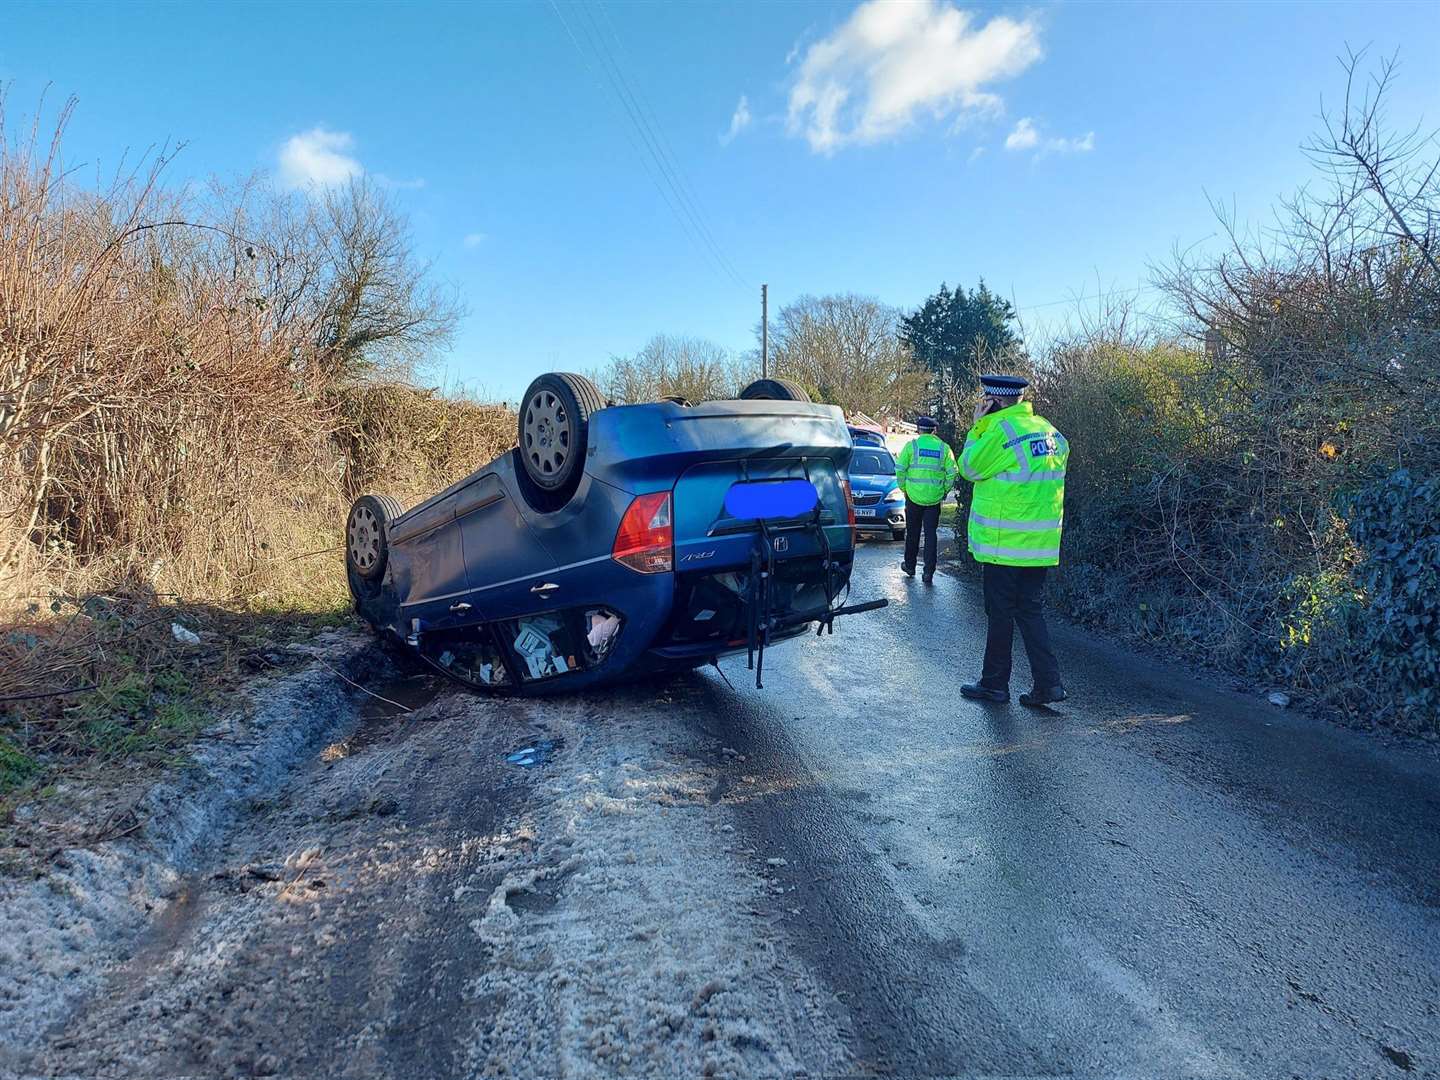
<instances>
[{"instance_id":1,"label":"slushy, frosty left half of the road below the overturned car","mask_svg":"<svg viewBox=\"0 0 1440 1080\"><path fill-rule=\"evenodd\" d=\"M783 887L713 795L733 759L677 729L675 693L445 690L361 726L251 808L22 1071L844 1068ZM549 762L505 760L540 740Z\"/></svg>"}]
</instances>

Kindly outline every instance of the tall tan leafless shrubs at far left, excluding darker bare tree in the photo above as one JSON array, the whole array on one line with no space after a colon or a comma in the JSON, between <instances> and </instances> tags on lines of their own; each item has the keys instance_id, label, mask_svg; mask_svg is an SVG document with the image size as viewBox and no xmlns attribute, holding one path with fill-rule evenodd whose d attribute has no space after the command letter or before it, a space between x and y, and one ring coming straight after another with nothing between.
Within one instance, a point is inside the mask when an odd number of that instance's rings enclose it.
<instances>
[{"instance_id":1,"label":"tall tan leafless shrubs at far left, excluding darker bare tree","mask_svg":"<svg viewBox=\"0 0 1440 1080\"><path fill-rule=\"evenodd\" d=\"M0 459L14 572L39 546L135 588L232 598L323 494L328 410L240 240L160 156L91 192L49 147L0 158ZM288 544L287 544L288 546Z\"/></svg>"}]
</instances>

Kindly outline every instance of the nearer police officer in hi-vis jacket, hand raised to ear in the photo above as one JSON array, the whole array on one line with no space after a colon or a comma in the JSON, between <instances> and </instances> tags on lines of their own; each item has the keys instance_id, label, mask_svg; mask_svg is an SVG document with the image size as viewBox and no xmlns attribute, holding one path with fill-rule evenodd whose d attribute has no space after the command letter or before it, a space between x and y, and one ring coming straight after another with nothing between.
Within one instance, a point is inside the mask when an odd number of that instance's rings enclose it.
<instances>
[{"instance_id":1,"label":"nearer police officer in hi-vis jacket, hand raised to ear","mask_svg":"<svg viewBox=\"0 0 1440 1080\"><path fill-rule=\"evenodd\" d=\"M1021 395L1028 383L1009 374L981 376L984 399L960 451L960 475L975 485L968 526L971 554L984 566L985 664L965 697L1009 701L1015 625L1035 680L1022 706L1064 701L1060 665L1041 609L1045 570L1060 563L1066 462L1070 444Z\"/></svg>"}]
</instances>

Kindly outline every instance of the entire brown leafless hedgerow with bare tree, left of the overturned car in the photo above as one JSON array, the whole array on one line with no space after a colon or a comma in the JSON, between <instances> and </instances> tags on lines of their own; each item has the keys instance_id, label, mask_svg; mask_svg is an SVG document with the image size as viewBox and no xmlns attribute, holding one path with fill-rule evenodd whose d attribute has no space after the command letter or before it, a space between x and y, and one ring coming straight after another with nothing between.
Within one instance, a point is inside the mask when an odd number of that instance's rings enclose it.
<instances>
[{"instance_id":1,"label":"entire brown leafless hedgerow with bare tree, left of the overturned car","mask_svg":"<svg viewBox=\"0 0 1440 1080\"><path fill-rule=\"evenodd\" d=\"M174 192L160 153L89 189L60 167L69 111L48 143L0 114L0 595L338 602L323 553L356 475L403 451L415 488L454 471L439 446L495 441L433 395L403 422L363 409L369 432L346 412L356 376L413 370L456 305L367 181Z\"/></svg>"}]
</instances>

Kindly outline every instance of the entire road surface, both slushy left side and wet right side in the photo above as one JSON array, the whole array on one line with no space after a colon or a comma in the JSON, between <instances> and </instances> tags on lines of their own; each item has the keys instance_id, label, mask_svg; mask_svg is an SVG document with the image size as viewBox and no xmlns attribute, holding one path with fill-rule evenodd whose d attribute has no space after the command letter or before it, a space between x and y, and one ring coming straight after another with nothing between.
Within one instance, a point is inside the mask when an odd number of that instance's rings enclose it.
<instances>
[{"instance_id":1,"label":"entire road surface, both slushy left side and wet right side","mask_svg":"<svg viewBox=\"0 0 1440 1080\"><path fill-rule=\"evenodd\" d=\"M419 687L253 806L20 1071L1440 1070L1433 747L1063 625L1071 701L966 701L978 592L897 563L864 544L854 599L891 605L763 691L743 660Z\"/></svg>"}]
</instances>

